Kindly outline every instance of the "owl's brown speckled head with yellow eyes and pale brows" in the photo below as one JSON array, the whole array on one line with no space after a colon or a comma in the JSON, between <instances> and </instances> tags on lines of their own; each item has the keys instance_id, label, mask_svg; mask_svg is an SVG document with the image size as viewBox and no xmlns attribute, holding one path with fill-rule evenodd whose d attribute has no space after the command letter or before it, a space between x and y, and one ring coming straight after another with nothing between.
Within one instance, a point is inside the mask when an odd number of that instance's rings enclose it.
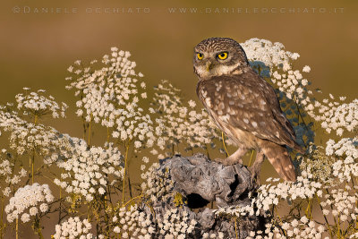
<instances>
[{"instance_id":1,"label":"owl's brown speckled head with yellow eyes and pale brows","mask_svg":"<svg viewBox=\"0 0 358 239\"><path fill-rule=\"evenodd\" d=\"M194 73L205 80L240 73L249 65L243 47L232 38L207 38L194 48Z\"/></svg>"}]
</instances>

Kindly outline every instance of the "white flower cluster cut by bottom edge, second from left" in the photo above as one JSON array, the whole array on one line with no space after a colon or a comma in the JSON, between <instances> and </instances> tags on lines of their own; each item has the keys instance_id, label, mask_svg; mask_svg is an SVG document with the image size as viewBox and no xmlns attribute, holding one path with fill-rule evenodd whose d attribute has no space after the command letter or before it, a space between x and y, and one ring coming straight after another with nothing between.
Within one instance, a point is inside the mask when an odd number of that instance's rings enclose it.
<instances>
[{"instance_id":1,"label":"white flower cluster cut by bottom edge, second from left","mask_svg":"<svg viewBox=\"0 0 358 239\"><path fill-rule=\"evenodd\" d=\"M150 215L139 211L138 206L131 206L130 209L119 209L118 215L113 218L115 223L114 232L121 234L121 238L150 239L156 232L150 219Z\"/></svg>"}]
</instances>

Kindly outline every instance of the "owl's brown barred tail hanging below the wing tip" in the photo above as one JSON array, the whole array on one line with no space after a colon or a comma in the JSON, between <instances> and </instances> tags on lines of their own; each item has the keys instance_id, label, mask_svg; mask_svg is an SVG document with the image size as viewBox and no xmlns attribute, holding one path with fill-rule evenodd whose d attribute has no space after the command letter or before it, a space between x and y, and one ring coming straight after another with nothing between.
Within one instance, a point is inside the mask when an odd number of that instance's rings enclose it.
<instances>
[{"instance_id":1,"label":"owl's brown barred tail hanging below the wing tip","mask_svg":"<svg viewBox=\"0 0 358 239\"><path fill-rule=\"evenodd\" d=\"M274 166L278 175L286 181L296 181L296 173L294 164L287 152L285 146L268 142L266 147L262 148L262 152L268 158L268 161Z\"/></svg>"}]
</instances>

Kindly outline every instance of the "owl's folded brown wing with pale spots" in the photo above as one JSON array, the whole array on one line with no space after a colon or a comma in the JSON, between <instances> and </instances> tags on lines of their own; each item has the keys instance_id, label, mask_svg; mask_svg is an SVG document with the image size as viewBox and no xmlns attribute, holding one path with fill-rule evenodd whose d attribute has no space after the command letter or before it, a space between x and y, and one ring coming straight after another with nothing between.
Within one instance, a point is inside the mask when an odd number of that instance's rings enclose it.
<instances>
[{"instance_id":1,"label":"owl's folded brown wing with pale spots","mask_svg":"<svg viewBox=\"0 0 358 239\"><path fill-rule=\"evenodd\" d=\"M302 151L292 125L279 107L275 90L256 73L213 77L200 82L197 92L211 114L226 124Z\"/></svg>"}]
</instances>

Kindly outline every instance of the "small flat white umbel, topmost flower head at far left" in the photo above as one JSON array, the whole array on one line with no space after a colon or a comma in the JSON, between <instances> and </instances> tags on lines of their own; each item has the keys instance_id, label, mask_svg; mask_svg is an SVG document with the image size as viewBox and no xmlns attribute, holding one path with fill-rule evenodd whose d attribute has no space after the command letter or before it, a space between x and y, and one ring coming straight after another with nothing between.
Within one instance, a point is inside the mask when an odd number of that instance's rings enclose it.
<instances>
[{"instance_id":1,"label":"small flat white umbel, topmost flower head at far left","mask_svg":"<svg viewBox=\"0 0 358 239\"><path fill-rule=\"evenodd\" d=\"M24 88L28 91L29 88ZM42 116L51 113L52 117L58 118L60 115L65 117L64 112L67 105L61 103L58 105L55 98L43 96L46 90L38 90L38 92L26 92L25 94L16 95L17 108L23 112L24 115Z\"/></svg>"}]
</instances>

